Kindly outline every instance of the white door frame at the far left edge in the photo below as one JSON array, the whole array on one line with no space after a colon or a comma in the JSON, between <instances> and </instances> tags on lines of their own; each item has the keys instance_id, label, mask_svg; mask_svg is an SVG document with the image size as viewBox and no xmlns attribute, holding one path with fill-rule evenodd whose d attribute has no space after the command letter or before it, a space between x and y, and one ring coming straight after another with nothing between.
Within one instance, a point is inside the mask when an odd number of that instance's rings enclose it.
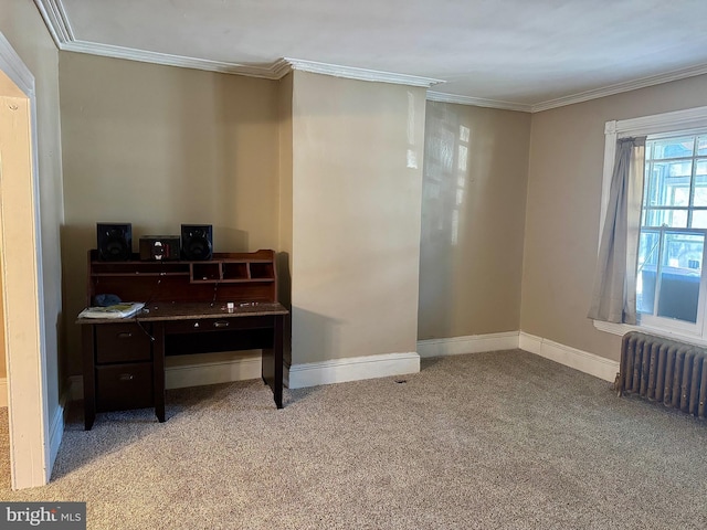
<instances>
[{"instance_id":1,"label":"white door frame at the far left edge","mask_svg":"<svg viewBox=\"0 0 707 530\"><path fill-rule=\"evenodd\" d=\"M36 96L34 76L1 32L0 103L12 130L3 137L0 124L0 252L11 477L21 489L51 475Z\"/></svg>"}]
</instances>

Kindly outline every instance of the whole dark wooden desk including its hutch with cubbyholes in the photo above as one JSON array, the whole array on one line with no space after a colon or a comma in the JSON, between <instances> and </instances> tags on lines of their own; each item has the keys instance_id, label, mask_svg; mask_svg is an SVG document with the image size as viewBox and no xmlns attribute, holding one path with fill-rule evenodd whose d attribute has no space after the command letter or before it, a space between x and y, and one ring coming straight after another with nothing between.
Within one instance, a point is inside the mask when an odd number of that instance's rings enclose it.
<instances>
[{"instance_id":1,"label":"whole dark wooden desk including its hutch with cubbyholes","mask_svg":"<svg viewBox=\"0 0 707 530\"><path fill-rule=\"evenodd\" d=\"M104 411L154 406L163 422L167 356L262 349L263 381L282 409L288 311L275 301L274 252L214 256L202 263L108 263L96 261L91 251L89 300L109 293L151 301L135 317L76 320L82 328L86 431L96 412Z\"/></svg>"}]
</instances>

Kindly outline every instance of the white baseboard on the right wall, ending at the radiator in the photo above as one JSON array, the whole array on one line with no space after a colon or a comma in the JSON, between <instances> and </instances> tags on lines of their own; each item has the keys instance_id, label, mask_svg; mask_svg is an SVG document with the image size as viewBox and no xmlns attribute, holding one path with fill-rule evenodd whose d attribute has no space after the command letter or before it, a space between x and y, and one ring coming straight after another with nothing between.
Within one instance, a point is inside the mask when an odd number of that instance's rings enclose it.
<instances>
[{"instance_id":1,"label":"white baseboard on the right wall, ending at the radiator","mask_svg":"<svg viewBox=\"0 0 707 530\"><path fill-rule=\"evenodd\" d=\"M595 356L569 346L520 331L518 346L521 350L550 359L580 372L613 382L619 371L619 361Z\"/></svg>"}]
</instances>

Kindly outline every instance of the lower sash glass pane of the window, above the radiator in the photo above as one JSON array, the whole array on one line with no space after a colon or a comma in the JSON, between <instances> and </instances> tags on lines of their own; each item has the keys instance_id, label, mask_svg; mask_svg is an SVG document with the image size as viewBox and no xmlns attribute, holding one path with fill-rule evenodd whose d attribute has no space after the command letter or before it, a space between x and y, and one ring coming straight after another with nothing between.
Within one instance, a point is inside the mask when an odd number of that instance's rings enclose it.
<instances>
[{"instance_id":1,"label":"lower sash glass pane of the window, above the radiator","mask_svg":"<svg viewBox=\"0 0 707 530\"><path fill-rule=\"evenodd\" d=\"M666 232L659 278L658 316L697 321L703 234Z\"/></svg>"}]
</instances>

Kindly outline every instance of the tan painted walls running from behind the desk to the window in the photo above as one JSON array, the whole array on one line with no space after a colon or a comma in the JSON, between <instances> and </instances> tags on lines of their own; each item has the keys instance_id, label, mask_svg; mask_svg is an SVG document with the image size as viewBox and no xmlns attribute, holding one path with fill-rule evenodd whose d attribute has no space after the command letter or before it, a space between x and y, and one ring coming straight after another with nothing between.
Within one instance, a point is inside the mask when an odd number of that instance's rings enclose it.
<instances>
[{"instance_id":1,"label":"tan painted walls running from behind the desk to the window","mask_svg":"<svg viewBox=\"0 0 707 530\"><path fill-rule=\"evenodd\" d=\"M469 153L456 189L437 167L439 195L431 168L422 201L420 88L303 72L277 83L68 53L61 65L67 319L84 303L95 222L133 221L136 239L212 222L217 250L283 252L295 363L518 327L615 359L618 339L584 317L603 124L707 104L705 77L532 116L428 104L428 137L439 135L431 148L457 142L464 126ZM407 167L411 148L418 169ZM455 244L446 205L461 206Z\"/></svg>"}]
</instances>

